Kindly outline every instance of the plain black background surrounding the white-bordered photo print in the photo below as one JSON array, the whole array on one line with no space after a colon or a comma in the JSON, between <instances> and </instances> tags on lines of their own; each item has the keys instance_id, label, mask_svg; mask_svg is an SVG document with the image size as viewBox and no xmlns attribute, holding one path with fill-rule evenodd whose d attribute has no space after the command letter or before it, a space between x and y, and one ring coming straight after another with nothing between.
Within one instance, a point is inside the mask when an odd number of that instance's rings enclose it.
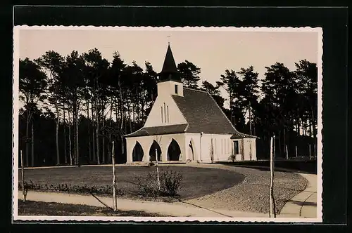
<instances>
[{"instance_id":1,"label":"plain black background surrounding the white-bordered photo print","mask_svg":"<svg viewBox=\"0 0 352 233\"><path fill-rule=\"evenodd\" d=\"M307 5L306 1L291 1L294 4ZM270 1L270 4L275 4ZM16 4L34 4L22 3ZM39 3L38 3L39 4ZM41 4L49 3L43 2ZM51 5L57 5L52 3ZM64 1L61 5L72 5L73 3ZM87 3L75 1L75 5L87 5ZM95 5L115 5L111 1L91 3ZM120 5L129 4L127 1ZM131 4L131 3L130 3ZM144 5L134 1L134 5ZM172 3L168 3L171 5ZM175 6L196 6L195 1L177 1ZM201 6L221 5L220 1L213 3L200 2ZM229 5L226 3L222 3ZM234 4L234 3L232 3ZM260 1L242 2L243 6L263 6ZM246 5L244 5L246 4ZM279 3L279 5L287 2ZM326 4L326 6L344 6L344 2L339 1L320 1L315 4ZM339 5L337 5L339 4ZM346 4L346 3L345 3ZM152 6L162 6L165 2L154 3ZM237 4L237 6L241 6ZM289 6L287 4L287 6ZM312 5L313 6L313 5ZM13 17L13 11L15 15ZM13 23L14 25L109 25L109 26L234 26L234 27L322 27L323 29L323 222L324 224L303 225L286 224L289 228L299 232L311 232L326 230L327 232L345 232L347 223L347 168L351 168L351 162L347 162L347 151L351 143L348 143L348 85L347 85L347 65L348 65L348 8L237 8L237 7L44 7L44 6L16 6L13 10L11 5L2 7L0 30L2 37L1 49L1 100L5 107L0 110L1 116L1 159L3 162L1 178L2 186L5 186L1 194L1 213L6 217L1 218L2 227L8 227L1 232L37 232L37 231L75 231L75 232L96 232L103 230L106 232L118 231L190 231L202 232L214 230L219 231L267 231L277 230L282 232L284 229L278 224L258 223L253 227L249 223L177 223L177 224L153 224L146 223L125 223L125 224L14 224L11 225L11 107L12 107L12 63L13 63ZM14 20L14 21L13 21ZM5 55L5 54L6 55ZM6 169L4 169L6 168ZM351 170L351 169L350 169ZM5 194L5 195L4 195ZM4 199L6 196L6 199ZM329 227L325 224L328 224ZM323 226L325 225L325 226ZM138 226L138 227L137 227ZM218 227L218 228L214 228ZM258 229L257 229L258 227ZM103 228L103 229L102 229ZM112 229L113 228L113 229Z\"/></svg>"}]
</instances>

